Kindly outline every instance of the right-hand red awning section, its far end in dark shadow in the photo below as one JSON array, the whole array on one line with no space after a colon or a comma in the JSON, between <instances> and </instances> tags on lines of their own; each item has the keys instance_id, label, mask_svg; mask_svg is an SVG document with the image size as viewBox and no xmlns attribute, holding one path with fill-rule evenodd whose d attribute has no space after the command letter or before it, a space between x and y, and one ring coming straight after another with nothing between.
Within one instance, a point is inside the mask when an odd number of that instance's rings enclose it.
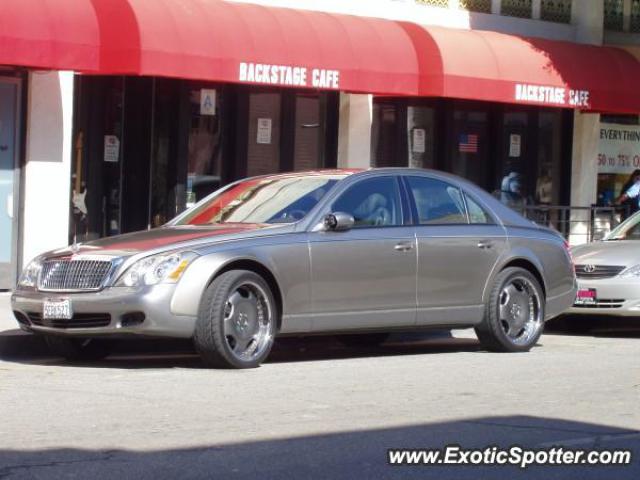
<instances>
[{"instance_id":1,"label":"right-hand red awning section, its far end in dark shadow","mask_svg":"<svg viewBox=\"0 0 640 480\"><path fill-rule=\"evenodd\" d=\"M420 52L421 96L640 112L640 63L621 49L402 25Z\"/></svg>"}]
</instances>

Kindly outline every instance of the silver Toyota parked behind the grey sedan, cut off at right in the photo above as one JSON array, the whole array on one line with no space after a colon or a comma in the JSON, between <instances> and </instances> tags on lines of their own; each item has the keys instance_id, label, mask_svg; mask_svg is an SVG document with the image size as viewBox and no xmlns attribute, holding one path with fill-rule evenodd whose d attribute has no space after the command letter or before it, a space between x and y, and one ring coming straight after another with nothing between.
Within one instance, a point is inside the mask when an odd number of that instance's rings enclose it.
<instances>
[{"instance_id":1,"label":"silver Toyota parked behind the grey sedan, cut off at right","mask_svg":"<svg viewBox=\"0 0 640 480\"><path fill-rule=\"evenodd\" d=\"M571 315L640 316L640 212L604 240L574 247L573 256L578 294Z\"/></svg>"}]
</instances>

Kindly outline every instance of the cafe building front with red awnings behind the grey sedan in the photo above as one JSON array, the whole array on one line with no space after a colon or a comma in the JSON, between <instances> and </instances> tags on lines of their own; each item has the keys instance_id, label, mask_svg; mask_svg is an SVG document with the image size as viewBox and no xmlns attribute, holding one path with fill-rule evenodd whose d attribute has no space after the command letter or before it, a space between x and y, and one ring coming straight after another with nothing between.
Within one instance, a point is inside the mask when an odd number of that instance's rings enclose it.
<instances>
[{"instance_id":1,"label":"cafe building front with red awnings behind the grey sedan","mask_svg":"<svg viewBox=\"0 0 640 480\"><path fill-rule=\"evenodd\" d=\"M638 94L580 57L640 72L635 0L176 0L146 19L145 0L76 2L11 35L48 1L0 19L0 288L44 250L153 228L244 176L417 166L590 206L626 174L599 173L601 131L637 123Z\"/></svg>"}]
</instances>

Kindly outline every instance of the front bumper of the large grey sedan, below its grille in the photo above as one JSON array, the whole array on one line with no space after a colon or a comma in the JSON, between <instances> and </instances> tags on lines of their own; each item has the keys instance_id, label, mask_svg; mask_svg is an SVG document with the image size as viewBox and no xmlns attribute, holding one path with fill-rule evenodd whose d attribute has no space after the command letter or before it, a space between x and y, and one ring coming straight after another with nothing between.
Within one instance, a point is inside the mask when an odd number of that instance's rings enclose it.
<instances>
[{"instance_id":1,"label":"front bumper of the large grey sedan, below its grille","mask_svg":"<svg viewBox=\"0 0 640 480\"><path fill-rule=\"evenodd\" d=\"M56 335L94 337L131 336L190 338L196 317L171 313L175 285L155 285L142 289L108 287L99 292L64 293L17 290L11 307L23 330ZM74 319L42 319L46 299L69 299ZM87 319L97 326L87 326Z\"/></svg>"}]
</instances>

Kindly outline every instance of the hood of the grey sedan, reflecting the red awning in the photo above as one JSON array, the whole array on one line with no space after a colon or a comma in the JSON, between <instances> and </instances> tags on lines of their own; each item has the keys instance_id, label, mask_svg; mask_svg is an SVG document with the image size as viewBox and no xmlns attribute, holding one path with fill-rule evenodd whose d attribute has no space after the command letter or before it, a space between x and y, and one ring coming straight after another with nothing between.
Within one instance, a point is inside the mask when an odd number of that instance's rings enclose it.
<instances>
[{"instance_id":1,"label":"hood of the grey sedan, reflecting the red awning","mask_svg":"<svg viewBox=\"0 0 640 480\"><path fill-rule=\"evenodd\" d=\"M129 257L142 252L193 249L212 243L287 233L290 224L224 224L211 226L165 226L101 238L50 252L54 255L109 255Z\"/></svg>"}]
</instances>

